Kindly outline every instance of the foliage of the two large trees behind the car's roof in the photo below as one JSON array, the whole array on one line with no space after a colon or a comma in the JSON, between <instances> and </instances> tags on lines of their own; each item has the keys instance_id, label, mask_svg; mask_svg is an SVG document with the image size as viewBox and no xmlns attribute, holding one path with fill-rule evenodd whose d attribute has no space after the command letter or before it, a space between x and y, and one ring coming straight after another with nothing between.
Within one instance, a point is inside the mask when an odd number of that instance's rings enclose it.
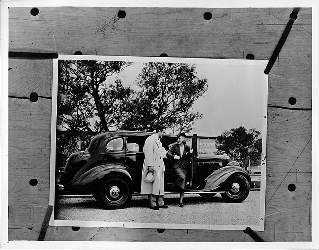
<instances>
[{"instance_id":1,"label":"foliage of the two large trees behind the car's roof","mask_svg":"<svg viewBox=\"0 0 319 250\"><path fill-rule=\"evenodd\" d=\"M158 124L171 133L188 132L202 114L194 102L207 90L195 66L182 63L146 63L137 77L136 91L116 77L131 62L60 60L57 155L84 150L90 137L113 129L149 130ZM108 79L114 79L107 84Z\"/></svg>"}]
</instances>

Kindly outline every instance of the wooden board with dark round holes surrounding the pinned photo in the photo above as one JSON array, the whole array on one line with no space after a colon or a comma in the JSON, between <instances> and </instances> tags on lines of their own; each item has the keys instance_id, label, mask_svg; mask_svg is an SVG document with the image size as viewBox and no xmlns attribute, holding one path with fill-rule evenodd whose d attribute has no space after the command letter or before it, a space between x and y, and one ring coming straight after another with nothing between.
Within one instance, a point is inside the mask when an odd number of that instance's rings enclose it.
<instances>
[{"instance_id":1,"label":"wooden board with dark round holes surrounding the pinned photo","mask_svg":"<svg viewBox=\"0 0 319 250\"><path fill-rule=\"evenodd\" d=\"M269 60L293 10L38 7L33 16L31 9L9 8L10 52L242 60ZM300 9L269 74L265 231L256 232L269 242L312 240L311 13ZM37 240L49 205L51 97L52 59L9 57L9 241ZM253 241L243 231L73 229L49 226L45 240Z\"/></svg>"}]
</instances>

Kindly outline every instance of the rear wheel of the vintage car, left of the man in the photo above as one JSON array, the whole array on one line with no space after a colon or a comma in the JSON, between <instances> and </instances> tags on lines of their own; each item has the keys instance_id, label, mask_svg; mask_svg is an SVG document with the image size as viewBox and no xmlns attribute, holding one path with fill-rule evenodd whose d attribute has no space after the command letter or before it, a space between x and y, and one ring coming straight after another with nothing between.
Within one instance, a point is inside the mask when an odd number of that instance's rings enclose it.
<instances>
[{"instance_id":1,"label":"rear wheel of the vintage car, left of the man","mask_svg":"<svg viewBox=\"0 0 319 250\"><path fill-rule=\"evenodd\" d=\"M131 181L120 175L110 175L102 179L95 198L105 209L125 207L132 198Z\"/></svg>"}]
</instances>

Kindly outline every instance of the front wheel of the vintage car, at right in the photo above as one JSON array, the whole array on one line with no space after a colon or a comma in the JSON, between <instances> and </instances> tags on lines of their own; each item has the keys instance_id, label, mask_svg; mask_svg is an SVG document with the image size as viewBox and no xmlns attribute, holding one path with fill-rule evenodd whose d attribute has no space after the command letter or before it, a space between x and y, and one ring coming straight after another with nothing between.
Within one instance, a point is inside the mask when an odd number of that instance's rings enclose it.
<instances>
[{"instance_id":1,"label":"front wheel of the vintage car, at right","mask_svg":"<svg viewBox=\"0 0 319 250\"><path fill-rule=\"evenodd\" d=\"M226 192L221 196L229 202L242 202L249 194L248 180L242 175L234 175L226 182Z\"/></svg>"}]
</instances>

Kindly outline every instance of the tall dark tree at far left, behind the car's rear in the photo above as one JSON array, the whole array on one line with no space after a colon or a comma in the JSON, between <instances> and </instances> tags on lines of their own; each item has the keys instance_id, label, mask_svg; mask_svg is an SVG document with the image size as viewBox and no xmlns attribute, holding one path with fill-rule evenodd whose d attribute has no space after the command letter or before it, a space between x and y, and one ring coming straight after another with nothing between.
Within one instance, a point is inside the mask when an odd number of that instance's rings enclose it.
<instances>
[{"instance_id":1,"label":"tall dark tree at far left, behind the car's rear","mask_svg":"<svg viewBox=\"0 0 319 250\"><path fill-rule=\"evenodd\" d=\"M57 139L61 144L61 151L57 154L83 150L81 147L92 135L108 131L125 118L125 103L133 90L124 87L118 78L111 84L106 84L106 79L131 64L59 61L57 125L64 125L67 132Z\"/></svg>"}]
</instances>

